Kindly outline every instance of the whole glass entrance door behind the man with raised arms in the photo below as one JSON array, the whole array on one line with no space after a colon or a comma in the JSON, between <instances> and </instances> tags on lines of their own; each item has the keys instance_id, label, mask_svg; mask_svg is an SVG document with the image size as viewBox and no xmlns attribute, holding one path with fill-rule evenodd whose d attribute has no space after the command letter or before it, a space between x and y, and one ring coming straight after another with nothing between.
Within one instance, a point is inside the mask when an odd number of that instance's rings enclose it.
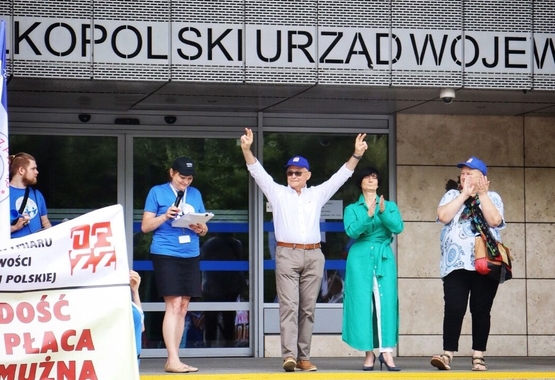
<instances>
[{"instance_id":1,"label":"whole glass entrance door behind the man with raised arms","mask_svg":"<svg viewBox=\"0 0 555 380\"><path fill-rule=\"evenodd\" d=\"M338 128L338 132L340 128ZM366 131L364 131L366 132ZM307 186L328 180L353 154L356 135L352 133L264 133L263 165L277 183L287 184L284 165L289 158L301 155L310 164L311 177ZM345 264L351 245L345 234L343 210L360 196L356 185L357 170L373 166L381 173L379 194L389 199L389 135L367 133L368 150L351 177L323 207L320 219L322 252L326 258L322 284L316 306L314 334L341 334ZM279 311L275 285L275 247L272 212L266 199L264 219L264 331L279 334ZM324 321L324 322L322 322ZM276 340L265 347L270 355L279 355Z\"/></svg>"}]
</instances>

